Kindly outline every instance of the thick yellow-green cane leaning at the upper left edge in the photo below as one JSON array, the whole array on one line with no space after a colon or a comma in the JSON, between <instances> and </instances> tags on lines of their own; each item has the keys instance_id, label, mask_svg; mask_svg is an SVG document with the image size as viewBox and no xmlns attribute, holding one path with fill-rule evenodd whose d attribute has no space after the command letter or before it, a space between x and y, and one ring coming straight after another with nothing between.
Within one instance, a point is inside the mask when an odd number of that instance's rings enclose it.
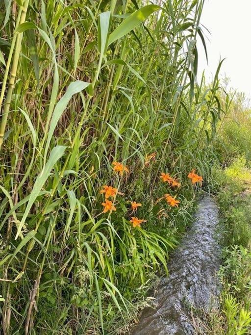
<instances>
[{"instance_id":1,"label":"thick yellow-green cane leaning at the upper left edge","mask_svg":"<svg viewBox=\"0 0 251 335\"><path fill-rule=\"evenodd\" d=\"M29 4L29 0L25 0L23 2L23 6L20 7L20 11L21 11L21 16L20 16L20 21L19 21L20 25L25 22L28 4ZM16 79L17 68L18 68L18 60L19 60L20 51L21 51L21 47L22 47L23 32L16 32L16 34L17 34L16 48L15 48L15 52L14 52L14 56L13 56L13 63L12 63L12 68L11 68L11 72L10 72L8 90L7 90L7 95L6 95L6 99L5 99L5 103L4 103L4 107L3 107L2 119L1 119L1 124L0 124L0 149L1 149L1 146L2 146L3 136L4 136L7 120L8 120L8 114L9 114L9 110L10 110L10 103L11 103L12 93L13 93L13 89L15 87L15 79ZM3 92L4 92L4 87L2 87L1 96L3 95Z\"/></svg>"}]
</instances>

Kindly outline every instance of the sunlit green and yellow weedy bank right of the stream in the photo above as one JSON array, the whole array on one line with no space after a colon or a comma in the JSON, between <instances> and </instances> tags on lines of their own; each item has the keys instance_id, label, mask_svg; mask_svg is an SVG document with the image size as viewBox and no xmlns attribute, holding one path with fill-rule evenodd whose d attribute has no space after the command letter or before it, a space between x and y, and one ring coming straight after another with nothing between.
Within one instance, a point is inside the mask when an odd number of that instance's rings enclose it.
<instances>
[{"instance_id":1,"label":"sunlit green and yellow weedy bank right of the stream","mask_svg":"<svg viewBox=\"0 0 251 335\"><path fill-rule=\"evenodd\" d=\"M251 114L238 95L220 126L212 184L223 229L221 309L194 317L197 334L251 334Z\"/></svg>"}]
</instances>

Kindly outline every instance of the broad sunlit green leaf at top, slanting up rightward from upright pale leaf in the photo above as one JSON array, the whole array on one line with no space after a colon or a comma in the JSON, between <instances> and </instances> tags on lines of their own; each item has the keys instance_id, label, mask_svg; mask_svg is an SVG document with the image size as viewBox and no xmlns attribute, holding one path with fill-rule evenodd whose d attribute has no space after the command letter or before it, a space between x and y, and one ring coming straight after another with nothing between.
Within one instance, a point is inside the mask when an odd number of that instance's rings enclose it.
<instances>
[{"instance_id":1,"label":"broad sunlit green leaf at top, slanting up rightward from upright pale leaf","mask_svg":"<svg viewBox=\"0 0 251 335\"><path fill-rule=\"evenodd\" d=\"M125 36L128 32L130 32L132 29L134 29L136 26L141 24L143 21L145 21L149 15L154 13L156 10L160 10L161 7L150 4L147 6L144 6L136 12L132 13L130 16L128 16L110 35L108 45L112 44L119 38Z\"/></svg>"}]
</instances>

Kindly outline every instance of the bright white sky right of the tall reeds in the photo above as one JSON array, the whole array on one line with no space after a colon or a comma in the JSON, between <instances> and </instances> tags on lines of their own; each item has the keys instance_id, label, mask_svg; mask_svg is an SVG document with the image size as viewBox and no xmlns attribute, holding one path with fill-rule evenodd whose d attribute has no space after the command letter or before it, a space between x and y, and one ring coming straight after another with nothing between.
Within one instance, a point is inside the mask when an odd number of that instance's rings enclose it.
<instances>
[{"instance_id":1,"label":"bright white sky right of the tall reeds","mask_svg":"<svg viewBox=\"0 0 251 335\"><path fill-rule=\"evenodd\" d=\"M205 69L209 81L220 58L226 57L221 77L226 74L230 78L230 86L251 97L251 0L205 0L201 24L211 35L203 28L208 66L199 41L199 75Z\"/></svg>"}]
</instances>

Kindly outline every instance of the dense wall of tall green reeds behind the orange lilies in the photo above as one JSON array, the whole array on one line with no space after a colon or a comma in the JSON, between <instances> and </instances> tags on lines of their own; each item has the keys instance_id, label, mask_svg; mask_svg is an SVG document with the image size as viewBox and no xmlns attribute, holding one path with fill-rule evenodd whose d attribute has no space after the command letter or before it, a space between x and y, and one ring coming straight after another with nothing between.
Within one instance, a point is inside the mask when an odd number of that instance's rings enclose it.
<instances>
[{"instance_id":1,"label":"dense wall of tall green reeds behind the orange lilies","mask_svg":"<svg viewBox=\"0 0 251 335\"><path fill-rule=\"evenodd\" d=\"M1 2L4 334L116 333L118 320L134 317L139 287L168 271L194 199L187 174L210 176L225 112L221 63L208 89L197 79L202 7ZM129 173L115 174L113 161ZM167 190L161 172L180 189ZM111 214L101 213L104 184L123 193ZM167 191L179 208L157 201ZM142 203L141 228L129 223L128 200Z\"/></svg>"}]
</instances>

